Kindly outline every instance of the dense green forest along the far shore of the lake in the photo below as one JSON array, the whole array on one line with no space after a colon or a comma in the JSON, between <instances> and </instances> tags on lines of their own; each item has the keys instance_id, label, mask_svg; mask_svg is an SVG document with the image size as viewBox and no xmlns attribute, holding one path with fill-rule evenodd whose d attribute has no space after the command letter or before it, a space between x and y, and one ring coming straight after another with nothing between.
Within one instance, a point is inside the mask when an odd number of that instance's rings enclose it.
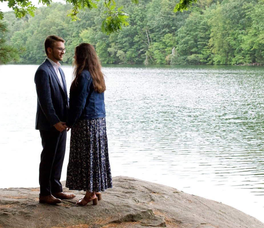
<instances>
[{"instance_id":1,"label":"dense green forest along the far shore of the lake","mask_svg":"<svg viewBox=\"0 0 264 228\"><path fill-rule=\"evenodd\" d=\"M23 50L21 63L43 62L44 40L57 34L66 40L63 63L72 63L75 46L88 42L102 64L264 64L264 0L200 0L177 13L172 0L119 0L129 25L111 34L101 29L103 2L80 11L77 21L67 16L72 5L63 3L39 7L35 17L5 12L5 39Z\"/></svg>"}]
</instances>

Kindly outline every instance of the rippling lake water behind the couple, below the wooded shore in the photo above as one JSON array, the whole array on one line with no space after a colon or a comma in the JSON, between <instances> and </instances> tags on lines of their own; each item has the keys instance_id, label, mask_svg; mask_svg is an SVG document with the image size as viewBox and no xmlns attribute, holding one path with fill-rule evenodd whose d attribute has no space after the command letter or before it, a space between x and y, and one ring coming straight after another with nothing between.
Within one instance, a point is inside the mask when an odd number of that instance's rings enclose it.
<instances>
[{"instance_id":1,"label":"rippling lake water behind the couple, below the wooded shore","mask_svg":"<svg viewBox=\"0 0 264 228\"><path fill-rule=\"evenodd\" d=\"M0 66L0 188L39 186L37 67ZM69 90L72 67L62 68ZM172 186L264 222L264 67L110 65L103 72L112 176ZM69 139L70 132L61 180Z\"/></svg>"}]
</instances>

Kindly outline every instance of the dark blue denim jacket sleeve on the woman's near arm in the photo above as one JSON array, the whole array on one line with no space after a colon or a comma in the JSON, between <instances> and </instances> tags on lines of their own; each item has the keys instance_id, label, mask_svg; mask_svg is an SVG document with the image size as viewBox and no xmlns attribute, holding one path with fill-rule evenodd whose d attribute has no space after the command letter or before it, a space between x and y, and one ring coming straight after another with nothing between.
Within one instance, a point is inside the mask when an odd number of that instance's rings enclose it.
<instances>
[{"instance_id":1,"label":"dark blue denim jacket sleeve on the woman's near arm","mask_svg":"<svg viewBox=\"0 0 264 228\"><path fill-rule=\"evenodd\" d=\"M77 82L77 86L73 84L70 87L70 107L66 122L68 127L72 127L76 123L84 110L89 95L90 85L92 83L92 77L89 72L88 74L82 72L78 77Z\"/></svg>"}]
</instances>

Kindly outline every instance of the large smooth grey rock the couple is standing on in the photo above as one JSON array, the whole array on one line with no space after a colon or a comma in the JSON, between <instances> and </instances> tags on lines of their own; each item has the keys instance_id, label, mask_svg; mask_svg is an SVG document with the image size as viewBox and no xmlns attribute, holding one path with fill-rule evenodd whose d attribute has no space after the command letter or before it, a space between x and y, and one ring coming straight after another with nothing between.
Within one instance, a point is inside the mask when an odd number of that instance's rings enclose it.
<instances>
[{"instance_id":1,"label":"large smooth grey rock the couple is standing on","mask_svg":"<svg viewBox=\"0 0 264 228\"><path fill-rule=\"evenodd\" d=\"M65 186L65 182L62 182ZM263 228L264 224L233 207L175 188L130 177L113 178L96 206L76 205L84 196L58 205L38 203L38 188L0 189L1 228Z\"/></svg>"}]
</instances>

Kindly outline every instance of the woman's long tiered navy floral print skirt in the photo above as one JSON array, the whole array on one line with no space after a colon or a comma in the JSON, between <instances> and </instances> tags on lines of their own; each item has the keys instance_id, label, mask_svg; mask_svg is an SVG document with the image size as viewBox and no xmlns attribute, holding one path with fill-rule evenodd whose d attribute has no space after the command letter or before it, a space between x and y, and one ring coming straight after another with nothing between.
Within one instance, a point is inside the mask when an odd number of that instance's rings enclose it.
<instances>
[{"instance_id":1,"label":"woman's long tiered navy floral print skirt","mask_svg":"<svg viewBox=\"0 0 264 228\"><path fill-rule=\"evenodd\" d=\"M72 127L66 188L89 192L112 188L105 117L80 120Z\"/></svg>"}]
</instances>

